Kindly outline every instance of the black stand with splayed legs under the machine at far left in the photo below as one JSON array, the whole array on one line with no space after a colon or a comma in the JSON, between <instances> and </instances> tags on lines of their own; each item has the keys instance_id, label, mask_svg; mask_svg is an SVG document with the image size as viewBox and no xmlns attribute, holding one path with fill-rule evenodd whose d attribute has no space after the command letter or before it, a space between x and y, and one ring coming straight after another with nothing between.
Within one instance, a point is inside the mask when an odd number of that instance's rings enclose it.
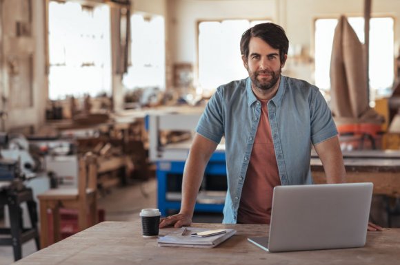
<instances>
[{"instance_id":1,"label":"black stand with splayed legs under the machine at far left","mask_svg":"<svg viewBox=\"0 0 400 265\"><path fill-rule=\"evenodd\" d=\"M31 222L31 228L23 227L23 213L20 204L26 202ZM36 202L33 200L32 189L5 189L0 192L0 204L8 205L10 215L10 228L0 229L0 246L12 246L14 251L14 261L22 258L22 244L34 239L39 250L39 232L37 231L37 209Z\"/></svg>"}]
</instances>

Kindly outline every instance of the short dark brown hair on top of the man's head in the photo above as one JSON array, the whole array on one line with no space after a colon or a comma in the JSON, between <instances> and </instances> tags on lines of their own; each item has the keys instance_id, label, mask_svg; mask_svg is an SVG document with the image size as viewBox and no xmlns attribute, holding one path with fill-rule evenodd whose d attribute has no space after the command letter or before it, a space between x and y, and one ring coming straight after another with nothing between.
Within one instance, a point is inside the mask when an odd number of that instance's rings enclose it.
<instances>
[{"instance_id":1,"label":"short dark brown hair on top of the man's head","mask_svg":"<svg viewBox=\"0 0 400 265\"><path fill-rule=\"evenodd\" d=\"M289 40L285 30L280 25L274 23L257 24L241 35L240 52L244 55L246 61L249 53L248 45L252 37L258 37L274 49L279 50L281 63L285 63L285 55L288 54L289 49Z\"/></svg>"}]
</instances>

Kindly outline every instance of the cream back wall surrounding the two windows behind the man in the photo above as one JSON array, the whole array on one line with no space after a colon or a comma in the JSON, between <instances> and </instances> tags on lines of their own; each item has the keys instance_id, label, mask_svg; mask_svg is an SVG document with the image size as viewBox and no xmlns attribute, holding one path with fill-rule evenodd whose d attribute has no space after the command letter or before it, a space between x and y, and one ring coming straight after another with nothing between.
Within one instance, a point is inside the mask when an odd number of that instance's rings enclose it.
<instances>
[{"instance_id":1,"label":"cream back wall surrounding the two windows behind the man","mask_svg":"<svg viewBox=\"0 0 400 265\"><path fill-rule=\"evenodd\" d=\"M210 19L272 19L286 29L290 45L301 45L310 54L313 48L314 19L363 15L363 0L169 0L168 27L171 63L197 65L197 22ZM400 1L372 1L372 16L395 18L395 54L400 43ZM313 82L313 65L290 60L284 74Z\"/></svg>"}]
</instances>

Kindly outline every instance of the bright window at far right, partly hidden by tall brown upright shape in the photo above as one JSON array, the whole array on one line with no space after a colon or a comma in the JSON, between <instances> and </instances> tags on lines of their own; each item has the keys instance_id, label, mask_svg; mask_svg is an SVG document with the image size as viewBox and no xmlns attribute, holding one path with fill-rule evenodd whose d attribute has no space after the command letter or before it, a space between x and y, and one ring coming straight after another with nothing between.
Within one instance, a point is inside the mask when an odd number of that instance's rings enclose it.
<instances>
[{"instance_id":1,"label":"bright window at far right, partly hidden by tall brown upright shape","mask_svg":"<svg viewBox=\"0 0 400 265\"><path fill-rule=\"evenodd\" d=\"M348 21L364 43L364 19L349 17ZM337 19L315 21L315 85L330 89L330 55ZM394 80L394 21L390 17L370 19L370 94L372 98L390 91Z\"/></svg>"}]
</instances>

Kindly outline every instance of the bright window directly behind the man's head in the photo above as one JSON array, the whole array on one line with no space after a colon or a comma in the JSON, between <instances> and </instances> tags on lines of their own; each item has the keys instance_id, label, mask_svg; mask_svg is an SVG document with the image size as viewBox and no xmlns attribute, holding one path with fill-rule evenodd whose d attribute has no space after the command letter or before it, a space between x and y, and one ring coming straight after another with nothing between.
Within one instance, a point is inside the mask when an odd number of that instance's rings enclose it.
<instances>
[{"instance_id":1,"label":"bright window directly behind the man's head","mask_svg":"<svg viewBox=\"0 0 400 265\"><path fill-rule=\"evenodd\" d=\"M199 89L212 92L219 85L246 78L240 53L241 34L268 21L224 20L199 23Z\"/></svg>"}]
</instances>

